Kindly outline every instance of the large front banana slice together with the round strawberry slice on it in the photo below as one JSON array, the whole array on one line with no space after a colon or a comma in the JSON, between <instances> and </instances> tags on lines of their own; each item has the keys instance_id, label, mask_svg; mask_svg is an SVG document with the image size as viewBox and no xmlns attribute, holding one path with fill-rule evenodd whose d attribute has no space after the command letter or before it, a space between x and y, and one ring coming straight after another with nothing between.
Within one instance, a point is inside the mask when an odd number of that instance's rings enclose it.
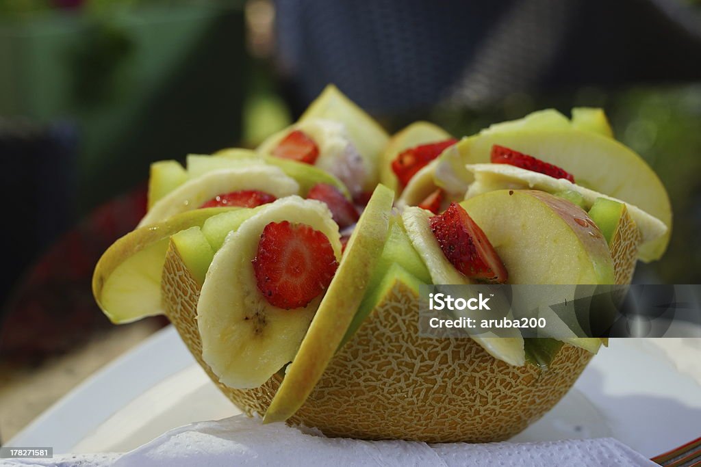
<instances>
[{"instance_id":1,"label":"large front banana slice together with the round strawberry slice on it","mask_svg":"<svg viewBox=\"0 0 701 467\"><path fill-rule=\"evenodd\" d=\"M233 388L266 382L295 354L341 258L325 204L268 204L215 253L197 305L202 357Z\"/></svg>"}]
</instances>

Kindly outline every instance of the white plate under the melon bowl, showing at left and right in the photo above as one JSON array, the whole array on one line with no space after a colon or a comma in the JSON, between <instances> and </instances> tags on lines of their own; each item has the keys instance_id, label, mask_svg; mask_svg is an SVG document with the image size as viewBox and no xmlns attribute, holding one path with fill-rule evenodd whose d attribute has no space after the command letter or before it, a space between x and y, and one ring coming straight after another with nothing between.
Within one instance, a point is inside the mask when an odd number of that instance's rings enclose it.
<instances>
[{"instance_id":1,"label":"white plate under the melon bowl, showing at left and right","mask_svg":"<svg viewBox=\"0 0 701 467\"><path fill-rule=\"evenodd\" d=\"M169 326L90 377L8 446L123 452L170 428L238 412ZM620 339L513 441L613 436L651 457L700 434L701 386L646 340Z\"/></svg>"}]
</instances>

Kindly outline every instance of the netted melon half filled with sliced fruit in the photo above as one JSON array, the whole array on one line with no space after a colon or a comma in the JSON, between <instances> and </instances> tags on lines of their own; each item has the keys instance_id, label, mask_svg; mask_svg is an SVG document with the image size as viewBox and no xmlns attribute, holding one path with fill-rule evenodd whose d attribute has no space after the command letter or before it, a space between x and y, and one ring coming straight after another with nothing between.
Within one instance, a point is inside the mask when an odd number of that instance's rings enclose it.
<instances>
[{"instance_id":1,"label":"netted melon half filled with sliced fruit","mask_svg":"<svg viewBox=\"0 0 701 467\"><path fill-rule=\"evenodd\" d=\"M628 284L671 220L600 109L459 141L425 122L389 137L329 86L255 151L156 162L149 211L104 253L93 291L114 323L168 316L264 422L498 441L550 410L602 340L427 337L421 284Z\"/></svg>"}]
</instances>

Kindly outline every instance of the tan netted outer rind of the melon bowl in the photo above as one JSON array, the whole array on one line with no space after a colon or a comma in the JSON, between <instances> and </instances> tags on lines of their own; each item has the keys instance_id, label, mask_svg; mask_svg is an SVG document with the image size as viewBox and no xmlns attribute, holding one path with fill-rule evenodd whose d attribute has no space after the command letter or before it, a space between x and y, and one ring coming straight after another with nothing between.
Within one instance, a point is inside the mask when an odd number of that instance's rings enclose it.
<instances>
[{"instance_id":1,"label":"tan netted outer rind of the melon bowl","mask_svg":"<svg viewBox=\"0 0 701 467\"><path fill-rule=\"evenodd\" d=\"M202 359L199 288L172 244L163 270L165 312L207 375L248 415L265 414L283 376L255 389L219 382ZM542 370L503 363L471 339L418 335L418 296L401 281L334 356L288 424L367 440L490 442L510 438L550 410L592 358L564 345Z\"/></svg>"}]
</instances>

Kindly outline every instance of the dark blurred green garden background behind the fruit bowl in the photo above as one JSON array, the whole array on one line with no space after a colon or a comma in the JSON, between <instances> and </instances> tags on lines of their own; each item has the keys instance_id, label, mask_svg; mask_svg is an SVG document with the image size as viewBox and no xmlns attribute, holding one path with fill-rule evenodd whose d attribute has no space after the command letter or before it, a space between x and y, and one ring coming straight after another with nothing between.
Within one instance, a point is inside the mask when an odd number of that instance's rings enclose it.
<instances>
[{"instance_id":1,"label":"dark blurred green garden background behind the fruit bowl","mask_svg":"<svg viewBox=\"0 0 701 467\"><path fill-rule=\"evenodd\" d=\"M255 146L327 83L390 131L603 107L672 198L636 280L700 282L698 1L0 0L0 440L165 325L90 291L149 164Z\"/></svg>"}]
</instances>

